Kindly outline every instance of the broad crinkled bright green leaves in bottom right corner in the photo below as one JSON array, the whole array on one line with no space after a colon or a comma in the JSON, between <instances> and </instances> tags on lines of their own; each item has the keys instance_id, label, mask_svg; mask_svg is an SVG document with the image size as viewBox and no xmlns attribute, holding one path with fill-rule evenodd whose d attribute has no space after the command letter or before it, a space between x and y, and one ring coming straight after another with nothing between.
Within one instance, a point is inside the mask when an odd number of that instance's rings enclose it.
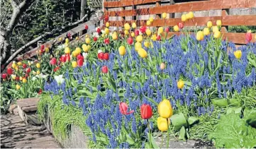
<instances>
[{"instance_id":1,"label":"broad crinkled bright green leaves in bottom right corner","mask_svg":"<svg viewBox=\"0 0 256 149\"><path fill-rule=\"evenodd\" d=\"M255 148L256 129L247 124L246 120L246 117L240 119L240 113L222 115L209 138L215 141L216 148Z\"/></svg>"}]
</instances>

